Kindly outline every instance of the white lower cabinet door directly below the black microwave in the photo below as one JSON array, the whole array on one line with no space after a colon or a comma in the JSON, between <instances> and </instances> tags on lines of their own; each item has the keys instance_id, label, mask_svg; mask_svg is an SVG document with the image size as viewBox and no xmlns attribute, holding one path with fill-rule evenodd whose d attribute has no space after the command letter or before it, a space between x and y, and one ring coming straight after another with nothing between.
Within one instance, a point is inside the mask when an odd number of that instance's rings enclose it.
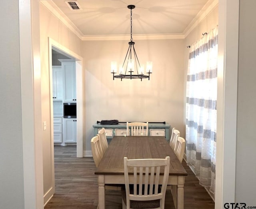
<instances>
[{"instance_id":1,"label":"white lower cabinet door directly below the black microwave","mask_svg":"<svg viewBox=\"0 0 256 209\"><path fill-rule=\"evenodd\" d=\"M76 142L76 118L63 118L63 142Z\"/></svg>"}]
</instances>

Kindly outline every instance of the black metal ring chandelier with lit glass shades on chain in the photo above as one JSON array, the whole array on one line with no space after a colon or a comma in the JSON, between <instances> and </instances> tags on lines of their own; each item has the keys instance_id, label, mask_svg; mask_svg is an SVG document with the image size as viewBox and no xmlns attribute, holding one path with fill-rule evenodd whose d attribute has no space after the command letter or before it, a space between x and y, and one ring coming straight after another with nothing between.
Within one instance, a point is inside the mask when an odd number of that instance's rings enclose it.
<instances>
[{"instance_id":1,"label":"black metal ring chandelier with lit glass shades on chain","mask_svg":"<svg viewBox=\"0 0 256 209\"><path fill-rule=\"evenodd\" d=\"M120 65L119 68L119 74L115 75L117 72L117 62L111 62L111 73L113 74L113 80L115 78L120 78L121 81L122 79L126 78L126 79L140 79L142 81L143 78L150 78L150 74L152 73L152 62L148 61L146 63L146 74L144 74L144 65L140 65L140 62L138 60L136 51L134 49L134 44L135 42L133 42L132 39L132 9L135 8L134 5L128 5L127 6L128 9L131 10L131 40L130 42L128 42L129 44L129 48L128 51L126 53L124 62L122 65ZM132 54L134 56L134 59L132 59ZM135 68L134 68L135 66ZM125 68L125 70L124 70Z\"/></svg>"}]
</instances>

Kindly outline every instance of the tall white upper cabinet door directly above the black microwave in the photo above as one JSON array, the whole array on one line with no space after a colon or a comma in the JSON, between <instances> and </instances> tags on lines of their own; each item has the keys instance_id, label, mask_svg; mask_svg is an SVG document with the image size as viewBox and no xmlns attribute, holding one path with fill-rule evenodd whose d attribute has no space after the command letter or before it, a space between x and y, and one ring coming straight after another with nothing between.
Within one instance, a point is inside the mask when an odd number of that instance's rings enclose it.
<instances>
[{"instance_id":1,"label":"tall white upper cabinet door directly above the black microwave","mask_svg":"<svg viewBox=\"0 0 256 209\"><path fill-rule=\"evenodd\" d=\"M62 62L64 98L63 102L76 102L76 68L74 62Z\"/></svg>"}]
</instances>

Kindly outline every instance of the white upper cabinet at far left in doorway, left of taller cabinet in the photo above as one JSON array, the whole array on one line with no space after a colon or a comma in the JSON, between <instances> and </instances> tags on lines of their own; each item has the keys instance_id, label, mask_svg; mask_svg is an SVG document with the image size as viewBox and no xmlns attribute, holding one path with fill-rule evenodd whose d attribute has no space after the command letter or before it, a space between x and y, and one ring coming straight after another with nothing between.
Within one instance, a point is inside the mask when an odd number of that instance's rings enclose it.
<instances>
[{"instance_id":1,"label":"white upper cabinet at far left in doorway, left of taller cabinet","mask_svg":"<svg viewBox=\"0 0 256 209\"><path fill-rule=\"evenodd\" d=\"M52 66L52 99L63 99L63 72L62 66Z\"/></svg>"}]
</instances>

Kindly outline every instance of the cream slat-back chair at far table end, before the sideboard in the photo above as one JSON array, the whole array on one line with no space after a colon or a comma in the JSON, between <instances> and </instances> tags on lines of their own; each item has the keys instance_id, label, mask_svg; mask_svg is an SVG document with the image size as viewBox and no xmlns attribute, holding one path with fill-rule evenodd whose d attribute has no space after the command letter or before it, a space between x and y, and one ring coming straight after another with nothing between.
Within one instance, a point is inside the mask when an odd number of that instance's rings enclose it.
<instances>
[{"instance_id":1,"label":"cream slat-back chair at far table end, before the sideboard","mask_svg":"<svg viewBox=\"0 0 256 209\"><path fill-rule=\"evenodd\" d=\"M131 131L130 131L131 130ZM127 122L126 134L131 136L147 136L148 135L148 122ZM130 134L129 134L130 133Z\"/></svg>"}]
</instances>

